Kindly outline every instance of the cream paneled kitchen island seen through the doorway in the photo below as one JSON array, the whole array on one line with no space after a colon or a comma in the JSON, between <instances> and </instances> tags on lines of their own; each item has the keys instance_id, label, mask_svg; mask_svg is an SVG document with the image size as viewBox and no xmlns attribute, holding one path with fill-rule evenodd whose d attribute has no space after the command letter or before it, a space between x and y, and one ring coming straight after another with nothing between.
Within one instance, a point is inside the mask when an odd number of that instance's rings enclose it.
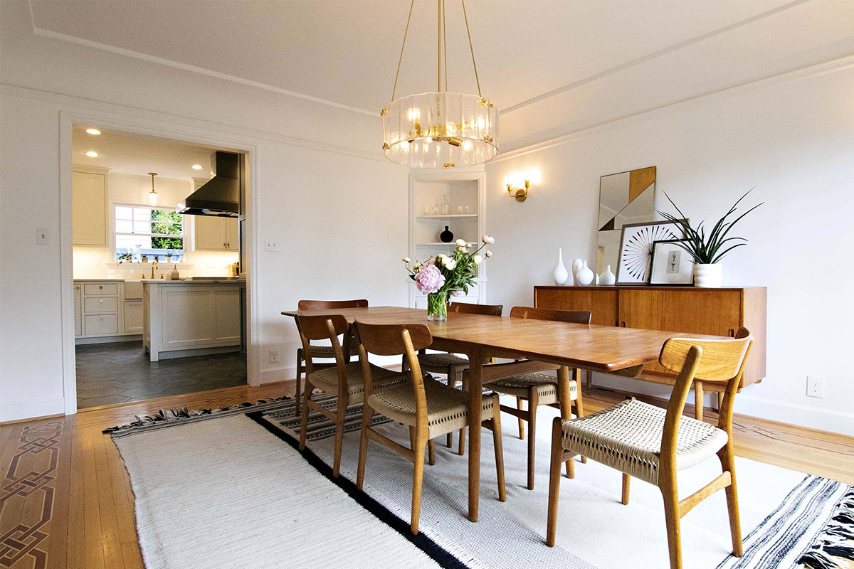
<instances>
[{"instance_id":1,"label":"cream paneled kitchen island seen through the doorway","mask_svg":"<svg viewBox=\"0 0 854 569\"><path fill-rule=\"evenodd\" d=\"M240 351L240 279L143 281L143 349L156 362Z\"/></svg>"}]
</instances>

